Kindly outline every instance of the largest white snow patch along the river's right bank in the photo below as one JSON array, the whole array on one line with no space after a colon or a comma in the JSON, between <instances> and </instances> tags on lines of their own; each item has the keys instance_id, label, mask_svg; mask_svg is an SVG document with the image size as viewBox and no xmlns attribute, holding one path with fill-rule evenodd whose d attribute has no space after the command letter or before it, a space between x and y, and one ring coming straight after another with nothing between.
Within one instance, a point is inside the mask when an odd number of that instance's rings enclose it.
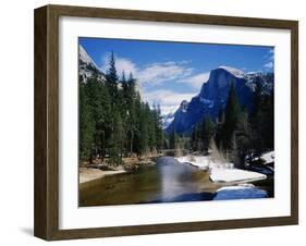
<instances>
[{"instance_id":1,"label":"largest white snow patch along the river's right bank","mask_svg":"<svg viewBox=\"0 0 306 246\"><path fill-rule=\"evenodd\" d=\"M186 156L175 158L180 163L189 163L199 169L210 171L210 180L215 183L243 183L267 179L267 175L241 169L235 169L233 163L216 163L208 156Z\"/></svg>"}]
</instances>

